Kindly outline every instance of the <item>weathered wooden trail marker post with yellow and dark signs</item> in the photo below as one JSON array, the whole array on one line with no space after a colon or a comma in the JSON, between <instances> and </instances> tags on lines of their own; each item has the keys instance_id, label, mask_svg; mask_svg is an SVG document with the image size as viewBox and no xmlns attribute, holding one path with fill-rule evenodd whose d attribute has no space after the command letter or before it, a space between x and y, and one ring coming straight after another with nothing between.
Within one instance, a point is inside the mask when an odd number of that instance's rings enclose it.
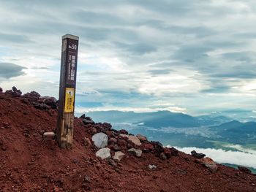
<instances>
[{"instance_id":1,"label":"weathered wooden trail marker post with yellow and dark signs","mask_svg":"<svg viewBox=\"0 0 256 192\"><path fill-rule=\"evenodd\" d=\"M70 34L62 37L59 110L56 132L57 141L61 148L72 147L78 40L79 37Z\"/></svg>"}]
</instances>

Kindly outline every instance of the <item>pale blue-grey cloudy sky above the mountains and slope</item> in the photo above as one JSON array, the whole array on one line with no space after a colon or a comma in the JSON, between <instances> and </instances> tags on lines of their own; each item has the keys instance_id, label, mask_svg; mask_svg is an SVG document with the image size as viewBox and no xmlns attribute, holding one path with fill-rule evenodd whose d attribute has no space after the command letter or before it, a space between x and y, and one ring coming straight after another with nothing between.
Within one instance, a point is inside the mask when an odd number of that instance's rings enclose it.
<instances>
[{"instance_id":1,"label":"pale blue-grey cloudy sky above the mountains and slope","mask_svg":"<svg viewBox=\"0 0 256 192\"><path fill-rule=\"evenodd\" d=\"M58 98L80 37L76 109L198 115L256 106L254 0L0 0L0 87Z\"/></svg>"}]
</instances>

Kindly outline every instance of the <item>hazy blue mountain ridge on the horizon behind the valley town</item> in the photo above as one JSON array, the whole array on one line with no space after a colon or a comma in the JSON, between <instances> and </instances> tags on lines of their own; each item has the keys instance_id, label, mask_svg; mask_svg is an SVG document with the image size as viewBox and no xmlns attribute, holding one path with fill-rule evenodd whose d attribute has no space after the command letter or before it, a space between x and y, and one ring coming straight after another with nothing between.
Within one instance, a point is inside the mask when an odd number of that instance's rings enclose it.
<instances>
[{"instance_id":1,"label":"hazy blue mountain ridge on the horizon behind the valley town","mask_svg":"<svg viewBox=\"0 0 256 192\"><path fill-rule=\"evenodd\" d=\"M154 128L217 126L232 120L225 116L202 115L193 117L182 112L170 112L166 110L157 112L121 112L111 110L87 112L86 115L96 121L105 121L110 123L143 123L145 126L151 126Z\"/></svg>"}]
</instances>

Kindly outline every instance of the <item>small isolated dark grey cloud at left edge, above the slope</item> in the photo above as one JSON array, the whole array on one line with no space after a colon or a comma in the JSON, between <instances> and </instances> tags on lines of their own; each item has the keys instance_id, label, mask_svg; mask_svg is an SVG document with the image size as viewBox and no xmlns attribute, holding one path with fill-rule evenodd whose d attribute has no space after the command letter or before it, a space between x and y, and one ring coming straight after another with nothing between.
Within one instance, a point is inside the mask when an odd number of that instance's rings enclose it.
<instances>
[{"instance_id":1,"label":"small isolated dark grey cloud at left edge, above the slope","mask_svg":"<svg viewBox=\"0 0 256 192\"><path fill-rule=\"evenodd\" d=\"M0 77L11 78L18 77L25 74L22 70L26 69L23 66L19 66L12 63L0 63Z\"/></svg>"}]
</instances>

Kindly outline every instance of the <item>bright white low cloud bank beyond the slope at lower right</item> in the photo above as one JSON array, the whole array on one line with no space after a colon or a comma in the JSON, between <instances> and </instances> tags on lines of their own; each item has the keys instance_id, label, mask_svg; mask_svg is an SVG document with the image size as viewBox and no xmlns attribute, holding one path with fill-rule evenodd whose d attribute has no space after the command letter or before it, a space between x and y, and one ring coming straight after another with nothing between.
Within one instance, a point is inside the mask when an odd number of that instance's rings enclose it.
<instances>
[{"instance_id":1,"label":"bright white low cloud bank beyond the slope at lower right","mask_svg":"<svg viewBox=\"0 0 256 192\"><path fill-rule=\"evenodd\" d=\"M231 150L222 150L222 149L203 149L197 147L176 147L178 150L183 151L184 153L190 154L192 150L195 150L197 153L204 153L206 156L214 159L219 164L236 164L241 166L249 166L256 169L256 151L255 150L246 150L242 147L239 147L241 151L231 151Z\"/></svg>"}]
</instances>

